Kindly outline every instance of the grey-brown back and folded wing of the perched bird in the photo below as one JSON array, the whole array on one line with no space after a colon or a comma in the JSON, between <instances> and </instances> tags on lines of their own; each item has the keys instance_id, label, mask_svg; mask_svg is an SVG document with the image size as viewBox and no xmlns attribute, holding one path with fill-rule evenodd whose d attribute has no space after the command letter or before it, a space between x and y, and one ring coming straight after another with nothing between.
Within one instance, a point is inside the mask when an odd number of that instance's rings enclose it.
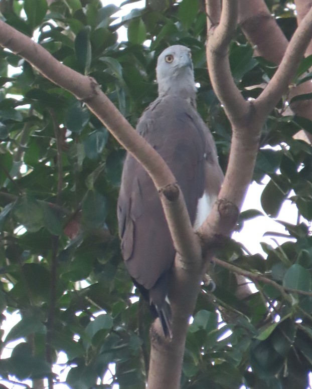
<instances>
[{"instance_id":1,"label":"grey-brown back and folded wing of the perched bird","mask_svg":"<svg viewBox=\"0 0 312 389\"><path fill-rule=\"evenodd\" d=\"M137 131L169 165L194 223L198 199L205 189L210 147L198 113L185 99L159 98L144 112ZM215 150L214 144L212 147ZM118 222L129 273L144 288L151 289L172 267L175 249L159 194L148 174L130 155L123 168ZM165 299L166 293L167 290L161 299Z\"/></svg>"}]
</instances>

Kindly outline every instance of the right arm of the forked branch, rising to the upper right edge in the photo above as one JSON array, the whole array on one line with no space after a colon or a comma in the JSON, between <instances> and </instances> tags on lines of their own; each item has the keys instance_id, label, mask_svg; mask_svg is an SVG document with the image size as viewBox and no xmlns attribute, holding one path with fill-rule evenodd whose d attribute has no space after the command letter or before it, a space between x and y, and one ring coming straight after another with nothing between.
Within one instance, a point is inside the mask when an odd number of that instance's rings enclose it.
<instances>
[{"instance_id":1,"label":"right arm of the forked branch, rising to the upper right edge","mask_svg":"<svg viewBox=\"0 0 312 389\"><path fill-rule=\"evenodd\" d=\"M279 68L271 81L254 103L260 115L267 116L277 104L281 95L285 93L291 78L304 55L312 36L312 9L302 20L295 31Z\"/></svg>"}]
</instances>

